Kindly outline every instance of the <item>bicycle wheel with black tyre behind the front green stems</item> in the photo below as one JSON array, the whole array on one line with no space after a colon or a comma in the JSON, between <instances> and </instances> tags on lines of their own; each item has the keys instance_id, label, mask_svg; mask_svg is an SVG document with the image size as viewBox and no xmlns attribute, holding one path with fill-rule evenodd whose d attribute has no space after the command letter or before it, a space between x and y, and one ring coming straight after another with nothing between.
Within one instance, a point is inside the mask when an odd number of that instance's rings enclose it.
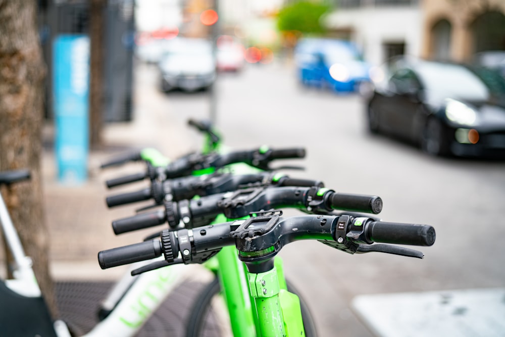
<instances>
[{"instance_id":1,"label":"bicycle wheel with black tyre behind the front green stems","mask_svg":"<svg viewBox=\"0 0 505 337\"><path fill-rule=\"evenodd\" d=\"M286 280L288 291L300 299L301 317L304 321L305 335L316 337L316 324L306 301L293 285ZM187 337L224 337L233 336L226 304L220 296L221 286L215 277L196 298L187 321Z\"/></svg>"}]
</instances>

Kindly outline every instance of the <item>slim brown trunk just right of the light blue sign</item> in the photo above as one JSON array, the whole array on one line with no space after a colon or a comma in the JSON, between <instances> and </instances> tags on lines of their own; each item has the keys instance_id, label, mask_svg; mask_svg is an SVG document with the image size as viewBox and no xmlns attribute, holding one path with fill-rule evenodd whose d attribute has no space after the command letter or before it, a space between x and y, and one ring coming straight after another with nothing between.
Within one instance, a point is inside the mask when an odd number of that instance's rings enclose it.
<instances>
[{"instance_id":1,"label":"slim brown trunk just right of the light blue sign","mask_svg":"<svg viewBox=\"0 0 505 337\"><path fill-rule=\"evenodd\" d=\"M89 145L91 149L102 146L105 6L105 0L91 0L89 6Z\"/></svg>"}]
</instances>

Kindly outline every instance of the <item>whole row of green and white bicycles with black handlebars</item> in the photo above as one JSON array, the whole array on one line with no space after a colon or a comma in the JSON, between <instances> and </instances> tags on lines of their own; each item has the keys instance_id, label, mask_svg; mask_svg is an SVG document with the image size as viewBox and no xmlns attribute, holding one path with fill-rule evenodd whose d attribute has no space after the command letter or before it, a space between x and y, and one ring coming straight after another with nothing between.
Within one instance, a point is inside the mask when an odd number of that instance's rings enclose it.
<instances>
[{"instance_id":1,"label":"whole row of green and white bicycles with black handlebars","mask_svg":"<svg viewBox=\"0 0 505 337\"><path fill-rule=\"evenodd\" d=\"M114 284L99 310L100 322L86 336L135 336L177 286L201 267L214 276L190 304L185 335L316 336L306 301L285 275L278 256L285 245L318 240L347 254L423 258L423 253L397 245L435 242L432 226L378 218L382 210L378 196L337 192L322 180L282 173L298 166L273 167L304 158L303 148L224 149L210 123L190 120L189 125L204 134L199 153L170 160L154 149L143 149L102 165L112 170L133 161L144 163L142 172L106 181L109 188L144 181L144 188L112 194L106 202L112 208L150 201L132 216L114 220L115 234L154 229L137 243L98 252L102 269L122 265L130 269ZM25 171L2 172L0 184L28 176ZM286 209L300 214L285 216ZM61 332L63 322L53 324L39 291L22 293L23 286L13 285L34 277L3 202L0 220L4 235L14 243L10 247L18 252L17 265L28 270L14 273L18 280L0 282L2 333L70 335ZM25 301L23 307L20 298L39 305L35 308ZM28 307L31 316L25 314Z\"/></svg>"}]
</instances>

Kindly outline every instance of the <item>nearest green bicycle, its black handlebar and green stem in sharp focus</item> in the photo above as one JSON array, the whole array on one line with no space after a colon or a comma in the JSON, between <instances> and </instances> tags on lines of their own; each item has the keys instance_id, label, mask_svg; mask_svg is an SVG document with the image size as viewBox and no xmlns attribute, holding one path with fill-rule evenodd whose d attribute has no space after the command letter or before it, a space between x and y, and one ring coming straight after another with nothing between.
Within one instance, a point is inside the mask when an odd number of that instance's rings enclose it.
<instances>
[{"instance_id":1,"label":"nearest green bicycle, its black handlebar and green stem in sharp focus","mask_svg":"<svg viewBox=\"0 0 505 337\"><path fill-rule=\"evenodd\" d=\"M238 259L246 266L256 335L299 336L305 335L299 300L285 290L274 263L284 245L299 239L316 239L350 254L382 252L422 258L421 252L384 244L431 246L435 230L428 225L349 215L283 218L281 211L269 210L256 212L249 219L195 229L164 230L159 240L99 252L98 261L104 269L162 255L168 265L201 263L224 247L235 246ZM384 244L372 245L374 242Z\"/></svg>"}]
</instances>

